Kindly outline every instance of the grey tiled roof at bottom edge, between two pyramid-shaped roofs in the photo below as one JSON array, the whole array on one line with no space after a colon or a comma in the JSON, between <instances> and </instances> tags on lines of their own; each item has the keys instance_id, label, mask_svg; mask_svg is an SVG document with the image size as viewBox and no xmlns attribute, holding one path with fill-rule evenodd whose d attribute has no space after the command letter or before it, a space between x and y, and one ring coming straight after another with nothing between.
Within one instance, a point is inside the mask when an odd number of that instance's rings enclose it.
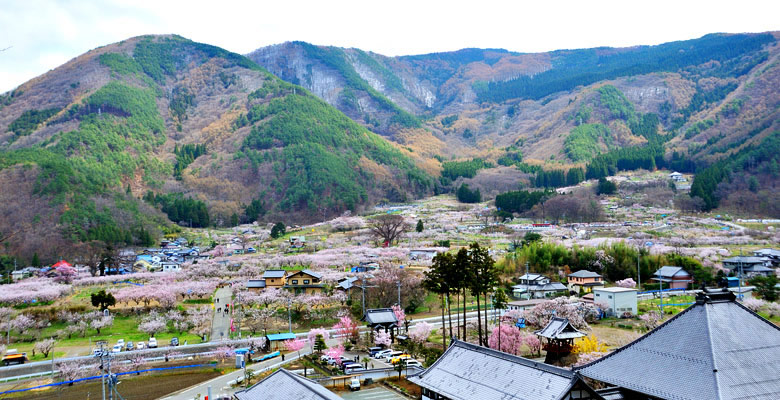
<instances>
[{"instance_id":1,"label":"grey tiled roof at bottom edge, between two pyramid-shaped roofs","mask_svg":"<svg viewBox=\"0 0 780 400\"><path fill-rule=\"evenodd\" d=\"M555 400L577 377L567 369L455 340L409 380L453 400Z\"/></svg>"}]
</instances>

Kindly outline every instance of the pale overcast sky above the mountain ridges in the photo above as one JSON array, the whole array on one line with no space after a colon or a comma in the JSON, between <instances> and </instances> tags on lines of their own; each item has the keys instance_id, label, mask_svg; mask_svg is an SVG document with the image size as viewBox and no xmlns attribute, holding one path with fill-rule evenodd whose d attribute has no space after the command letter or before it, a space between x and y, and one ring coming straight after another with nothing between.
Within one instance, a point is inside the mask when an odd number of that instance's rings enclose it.
<instances>
[{"instance_id":1,"label":"pale overcast sky above the mountain ridges","mask_svg":"<svg viewBox=\"0 0 780 400\"><path fill-rule=\"evenodd\" d=\"M390 56L538 52L780 30L778 16L777 0L0 0L0 92L143 34L176 33L242 54L291 40Z\"/></svg>"}]
</instances>

